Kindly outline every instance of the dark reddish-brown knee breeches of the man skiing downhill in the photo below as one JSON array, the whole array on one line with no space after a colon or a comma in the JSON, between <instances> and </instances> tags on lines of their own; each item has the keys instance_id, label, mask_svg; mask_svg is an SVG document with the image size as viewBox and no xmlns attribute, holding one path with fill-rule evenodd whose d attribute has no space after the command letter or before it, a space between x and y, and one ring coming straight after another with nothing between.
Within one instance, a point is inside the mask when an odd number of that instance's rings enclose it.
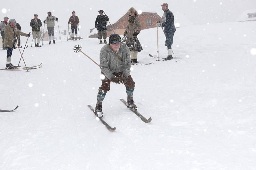
<instances>
[{"instance_id":1,"label":"dark reddish-brown knee breeches of the man skiing downhill","mask_svg":"<svg viewBox=\"0 0 256 170\"><path fill-rule=\"evenodd\" d=\"M101 72L101 74L104 75L104 73ZM116 77L122 77L123 72L120 73L113 73ZM99 87L99 93L103 93L106 94L109 90L110 90L110 82L111 80L109 80L106 76L105 79L101 80L102 84ZM124 83L125 87L127 89L134 89L135 87L135 82L132 80L132 76L131 74L128 76L126 83Z\"/></svg>"}]
</instances>

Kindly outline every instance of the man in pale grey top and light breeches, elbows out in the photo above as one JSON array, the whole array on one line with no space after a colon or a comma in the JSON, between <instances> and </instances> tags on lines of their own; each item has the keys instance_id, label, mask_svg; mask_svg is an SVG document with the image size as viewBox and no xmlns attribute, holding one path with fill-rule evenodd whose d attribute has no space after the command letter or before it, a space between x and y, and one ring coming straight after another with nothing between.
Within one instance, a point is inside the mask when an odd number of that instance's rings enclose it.
<instances>
[{"instance_id":1,"label":"man in pale grey top and light breeches, elbows out","mask_svg":"<svg viewBox=\"0 0 256 170\"><path fill-rule=\"evenodd\" d=\"M55 37L54 37L55 22L54 21L58 21L58 18L53 16L52 12L47 12L47 14L48 14L48 17L45 18L44 23L47 24L49 44L51 44L51 35L52 35L53 43L55 44Z\"/></svg>"}]
</instances>

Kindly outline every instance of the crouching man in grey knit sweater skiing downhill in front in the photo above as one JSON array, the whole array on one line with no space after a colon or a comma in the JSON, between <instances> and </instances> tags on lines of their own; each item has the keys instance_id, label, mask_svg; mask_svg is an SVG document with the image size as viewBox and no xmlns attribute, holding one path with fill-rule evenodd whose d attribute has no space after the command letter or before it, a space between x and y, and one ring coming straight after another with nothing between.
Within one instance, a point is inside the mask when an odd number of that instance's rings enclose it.
<instances>
[{"instance_id":1,"label":"crouching man in grey knit sweater skiing downhill in front","mask_svg":"<svg viewBox=\"0 0 256 170\"><path fill-rule=\"evenodd\" d=\"M98 89L97 104L94 111L98 117L103 116L102 101L110 90L111 81L125 85L127 107L137 110L132 98L135 82L130 75L131 56L129 51L129 47L121 42L121 37L118 34L110 35L109 43L100 50L100 70L104 78L101 80L102 84Z\"/></svg>"}]
</instances>

